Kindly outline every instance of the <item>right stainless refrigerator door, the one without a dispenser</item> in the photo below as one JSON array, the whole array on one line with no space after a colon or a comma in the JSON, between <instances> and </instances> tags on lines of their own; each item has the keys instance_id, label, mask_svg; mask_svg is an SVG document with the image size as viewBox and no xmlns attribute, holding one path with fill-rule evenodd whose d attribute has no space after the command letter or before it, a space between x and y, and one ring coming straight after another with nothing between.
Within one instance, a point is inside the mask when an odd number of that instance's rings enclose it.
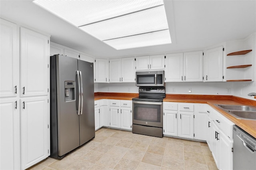
<instances>
[{"instance_id":1,"label":"right stainless refrigerator door, the one without a dispenser","mask_svg":"<svg viewBox=\"0 0 256 170\"><path fill-rule=\"evenodd\" d=\"M78 60L78 69L81 71L81 89L83 90L82 114L79 115L80 145L82 145L95 136L93 63Z\"/></svg>"}]
</instances>

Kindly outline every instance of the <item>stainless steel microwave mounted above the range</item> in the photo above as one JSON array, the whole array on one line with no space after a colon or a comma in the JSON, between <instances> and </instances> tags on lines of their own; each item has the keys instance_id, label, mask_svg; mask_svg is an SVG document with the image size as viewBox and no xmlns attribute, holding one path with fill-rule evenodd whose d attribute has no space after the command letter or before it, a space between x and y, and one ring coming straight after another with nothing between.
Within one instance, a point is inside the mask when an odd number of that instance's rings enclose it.
<instances>
[{"instance_id":1,"label":"stainless steel microwave mounted above the range","mask_svg":"<svg viewBox=\"0 0 256 170\"><path fill-rule=\"evenodd\" d=\"M136 86L164 86L164 71L137 71Z\"/></svg>"}]
</instances>

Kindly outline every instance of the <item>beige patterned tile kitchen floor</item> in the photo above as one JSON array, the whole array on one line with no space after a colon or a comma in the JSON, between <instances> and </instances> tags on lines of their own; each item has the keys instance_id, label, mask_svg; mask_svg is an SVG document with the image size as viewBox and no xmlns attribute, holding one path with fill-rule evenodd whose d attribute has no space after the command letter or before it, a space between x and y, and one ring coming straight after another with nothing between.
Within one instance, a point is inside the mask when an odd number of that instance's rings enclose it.
<instances>
[{"instance_id":1,"label":"beige patterned tile kitchen floor","mask_svg":"<svg viewBox=\"0 0 256 170\"><path fill-rule=\"evenodd\" d=\"M101 128L62 160L47 158L30 170L217 170L206 143Z\"/></svg>"}]
</instances>

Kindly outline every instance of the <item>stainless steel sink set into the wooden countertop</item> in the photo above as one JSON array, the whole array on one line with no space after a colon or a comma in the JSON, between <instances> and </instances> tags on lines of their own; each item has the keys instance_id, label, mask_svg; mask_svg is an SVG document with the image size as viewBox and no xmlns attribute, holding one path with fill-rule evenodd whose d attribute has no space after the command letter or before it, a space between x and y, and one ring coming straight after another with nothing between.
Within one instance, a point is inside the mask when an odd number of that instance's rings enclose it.
<instances>
[{"instance_id":1,"label":"stainless steel sink set into the wooden countertop","mask_svg":"<svg viewBox=\"0 0 256 170\"><path fill-rule=\"evenodd\" d=\"M237 119L256 120L256 107L246 105L216 105Z\"/></svg>"}]
</instances>

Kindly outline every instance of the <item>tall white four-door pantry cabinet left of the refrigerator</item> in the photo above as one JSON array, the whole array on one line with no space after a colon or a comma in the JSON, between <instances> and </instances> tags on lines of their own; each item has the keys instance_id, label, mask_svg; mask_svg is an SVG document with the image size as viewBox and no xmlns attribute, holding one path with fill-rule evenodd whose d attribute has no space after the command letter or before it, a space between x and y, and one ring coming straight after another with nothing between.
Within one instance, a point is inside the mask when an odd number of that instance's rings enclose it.
<instances>
[{"instance_id":1,"label":"tall white four-door pantry cabinet left of the refrigerator","mask_svg":"<svg viewBox=\"0 0 256 170\"><path fill-rule=\"evenodd\" d=\"M0 169L26 169L50 153L50 36L0 24Z\"/></svg>"}]
</instances>

